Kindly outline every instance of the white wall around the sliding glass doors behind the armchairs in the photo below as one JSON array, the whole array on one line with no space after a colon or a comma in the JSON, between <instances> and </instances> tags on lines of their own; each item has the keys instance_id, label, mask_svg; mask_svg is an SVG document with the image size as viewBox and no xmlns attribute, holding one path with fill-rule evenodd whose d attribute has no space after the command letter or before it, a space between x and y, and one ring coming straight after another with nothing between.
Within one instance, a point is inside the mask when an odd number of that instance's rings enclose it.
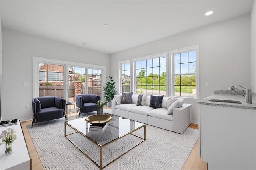
<instances>
[{"instance_id":1,"label":"white wall around the sliding glass doors behind the armchairs","mask_svg":"<svg viewBox=\"0 0 256 170\"><path fill-rule=\"evenodd\" d=\"M32 56L106 66L110 55L2 28L2 120L32 119ZM23 86L29 82L28 87ZM25 109L25 105L29 109Z\"/></svg>"}]
</instances>

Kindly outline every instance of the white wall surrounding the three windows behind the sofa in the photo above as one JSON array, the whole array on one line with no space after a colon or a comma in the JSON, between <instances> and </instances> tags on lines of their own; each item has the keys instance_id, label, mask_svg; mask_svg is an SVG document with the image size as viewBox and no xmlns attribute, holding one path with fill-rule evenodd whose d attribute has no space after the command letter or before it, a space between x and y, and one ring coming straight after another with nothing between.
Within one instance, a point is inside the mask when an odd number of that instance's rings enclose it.
<instances>
[{"instance_id":1,"label":"white wall surrounding the three windows behind the sofa","mask_svg":"<svg viewBox=\"0 0 256 170\"><path fill-rule=\"evenodd\" d=\"M199 44L200 99L214 94L216 89L250 87L250 14L112 54L111 76L118 82L118 61L196 44ZM205 81L209 86L205 86ZM197 102L185 102L192 104L192 121L198 123Z\"/></svg>"}]
</instances>

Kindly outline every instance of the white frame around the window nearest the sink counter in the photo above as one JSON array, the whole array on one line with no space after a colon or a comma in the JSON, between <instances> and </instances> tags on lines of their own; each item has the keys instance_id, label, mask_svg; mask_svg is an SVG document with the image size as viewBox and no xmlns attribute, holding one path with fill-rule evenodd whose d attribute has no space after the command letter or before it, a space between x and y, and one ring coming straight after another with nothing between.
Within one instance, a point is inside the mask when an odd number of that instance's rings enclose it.
<instances>
[{"instance_id":1,"label":"white frame around the window nearest the sink counter","mask_svg":"<svg viewBox=\"0 0 256 170\"><path fill-rule=\"evenodd\" d=\"M174 92L174 84L175 84L175 80L174 80L174 54L177 53L185 53L188 51L196 51L196 96L175 96L175 92ZM169 57L170 61L168 63L168 65L171 68L171 78L170 81L168 83L171 84L171 95L175 96L175 97L181 97L181 98L191 98L191 99L199 99L200 97L200 88L199 88L199 45L192 45L189 47L184 47L184 48L180 48L180 49L175 49L175 50L170 50L168 51L169 53Z\"/></svg>"}]
</instances>

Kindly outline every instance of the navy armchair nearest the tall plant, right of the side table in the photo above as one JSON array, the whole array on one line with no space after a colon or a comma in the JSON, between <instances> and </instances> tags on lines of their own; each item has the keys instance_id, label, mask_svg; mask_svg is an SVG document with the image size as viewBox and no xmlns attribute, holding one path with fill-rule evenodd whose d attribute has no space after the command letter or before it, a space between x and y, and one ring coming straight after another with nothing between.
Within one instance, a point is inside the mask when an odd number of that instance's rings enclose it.
<instances>
[{"instance_id":1,"label":"navy armchair nearest the tall plant, right of the side table","mask_svg":"<svg viewBox=\"0 0 256 170\"><path fill-rule=\"evenodd\" d=\"M78 117L80 117L81 113L97 111L97 102L100 100L100 96L95 94L77 94L75 97L76 107L79 112Z\"/></svg>"}]
</instances>

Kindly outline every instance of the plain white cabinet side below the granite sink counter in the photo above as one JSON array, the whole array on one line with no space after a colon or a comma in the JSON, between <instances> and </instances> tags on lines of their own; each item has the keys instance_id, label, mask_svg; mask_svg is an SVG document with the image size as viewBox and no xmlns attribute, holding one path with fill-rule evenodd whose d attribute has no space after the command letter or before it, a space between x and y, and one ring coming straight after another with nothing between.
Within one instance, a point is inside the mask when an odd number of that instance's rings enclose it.
<instances>
[{"instance_id":1,"label":"plain white cabinet side below the granite sink counter","mask_svg":"<svg viewBox=\"0 0 256 170\"><path fill-rule=\"evenodd\" d=\"M208 170L255 170L256 110L199 106L199 154Z\"/></svg>"}]
</instances>

